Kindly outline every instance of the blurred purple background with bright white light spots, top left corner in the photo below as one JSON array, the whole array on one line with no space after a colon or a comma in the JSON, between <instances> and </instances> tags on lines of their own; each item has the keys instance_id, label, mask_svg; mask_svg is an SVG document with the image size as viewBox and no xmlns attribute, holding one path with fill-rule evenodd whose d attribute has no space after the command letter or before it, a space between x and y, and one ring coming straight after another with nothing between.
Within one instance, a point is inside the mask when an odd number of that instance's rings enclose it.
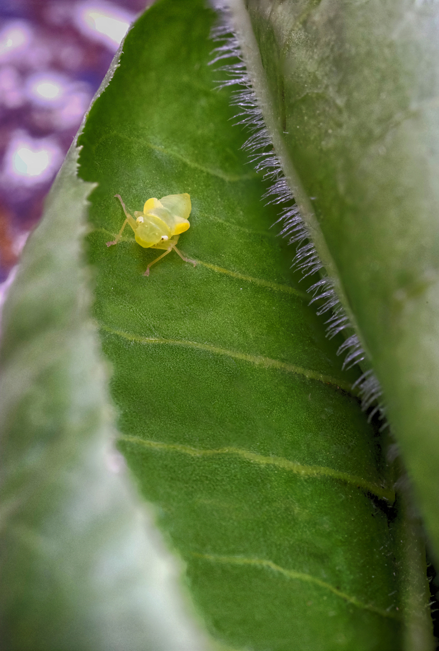
<instances>
[{"instance_id":1,"label":"blurred purple background with bright white light spots, top left corner","mask_svg":"<svg viewBox=\"0 0 439 651\"><path fill-rule=\"evenodd\" d=\"M83 114L148 4L0 0L0 303Z\"/></svg>"}]
</instances>

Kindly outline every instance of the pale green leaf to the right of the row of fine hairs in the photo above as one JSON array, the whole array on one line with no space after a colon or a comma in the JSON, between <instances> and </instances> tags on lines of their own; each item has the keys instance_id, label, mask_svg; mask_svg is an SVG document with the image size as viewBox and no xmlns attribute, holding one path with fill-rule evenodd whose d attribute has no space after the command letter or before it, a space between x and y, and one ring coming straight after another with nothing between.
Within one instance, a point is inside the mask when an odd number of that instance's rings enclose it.
<instances>
[{"instance_id":1,"label":"pale green leaf to the right of the row of fine hairs","mask_svg":"<svg viewBox=\"0 0 439 651\"><path fill-rule=\"evenodd\" d=\"M384 390L437 557L438 5L231 6L276 151Z\"/></svg>"}]
</instances>

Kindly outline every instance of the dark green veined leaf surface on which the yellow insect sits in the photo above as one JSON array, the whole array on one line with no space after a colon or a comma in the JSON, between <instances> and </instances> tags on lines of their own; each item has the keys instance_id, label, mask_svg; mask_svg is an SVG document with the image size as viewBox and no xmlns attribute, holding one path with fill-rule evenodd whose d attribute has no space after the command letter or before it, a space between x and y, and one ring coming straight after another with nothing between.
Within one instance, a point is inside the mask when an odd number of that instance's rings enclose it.
<instances>
[{"instance_id":1,"label":"dark green veined leaf surface on which the yellow insect sits","mask_svg":"<svg viewBox=\"0 0 439 651\"><path fill-rule=\"evenodd\" d=\"M341 372L340 341L270 230L229 92L214 90L213 21L202 0L150 8L79 140L79 173L98 183L89 260L120 449L217 639L399 649L414 585L427 603L419 536L399 536L412 530L403 510L393 521L384 441L350 392L358 370ZM178 245L195 268L170 253L145 277L157 252L128 229L106 247L124 220L115 194L133 213L185 192Z\"/></svg>"}]
</instances>

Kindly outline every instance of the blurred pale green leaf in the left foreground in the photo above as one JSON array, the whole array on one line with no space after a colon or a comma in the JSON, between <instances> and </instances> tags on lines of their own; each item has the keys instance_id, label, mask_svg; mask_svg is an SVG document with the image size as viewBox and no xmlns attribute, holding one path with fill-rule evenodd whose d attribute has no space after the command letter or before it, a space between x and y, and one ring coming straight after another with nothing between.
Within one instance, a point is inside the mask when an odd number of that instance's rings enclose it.
<instances>
[{"instance_id":1,"label":"blurred pale green leaf in the left foreground","mask_svg":"<svg viewBox=\"0 0 439 651\"><path fill-rule=\"evenodd\" d=\"M110 71L111 74L111 71ZM73 147L23 252L0 350L0 636L16 651L192 651L178 566L113 447Z\"/></svg>"}]
</instances>

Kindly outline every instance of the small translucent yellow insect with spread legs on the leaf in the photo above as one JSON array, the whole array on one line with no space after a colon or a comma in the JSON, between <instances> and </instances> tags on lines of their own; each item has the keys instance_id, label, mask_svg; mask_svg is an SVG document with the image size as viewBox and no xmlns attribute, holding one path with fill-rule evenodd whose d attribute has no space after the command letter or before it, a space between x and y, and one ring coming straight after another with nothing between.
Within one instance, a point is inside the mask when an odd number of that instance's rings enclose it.
<instances>
[{"instance_id":1,"label":"small translucent yellow insect with spread legs on the leaf","mask_svg":"<svg viewBox=\"0 0 439 651\"><path fill-rule=\"evenodd\" d=\"M144 249L166 249L165 253L159 255L158 258L152 260L147 266L147 270L143 275L149 276L149 268L164 258L165 255L171 253L172 249L184 262L191 262L195 267L195 260L185 258L180 251L178 251L176 244L181 233L188 230L190 223L188 217L191 212L191 198L188 194L184 195L168 195L158 199L148 199L143 206L143 212L135 210L134 217L126 212L126 207L120 195L115 195L122 204L126 219L120 232L113 242L107 242L107 246L117 244L122 236L122 232L127 224L134 230L134 238L137 244L143 246Z\"/></svg>"}]
</instances>

